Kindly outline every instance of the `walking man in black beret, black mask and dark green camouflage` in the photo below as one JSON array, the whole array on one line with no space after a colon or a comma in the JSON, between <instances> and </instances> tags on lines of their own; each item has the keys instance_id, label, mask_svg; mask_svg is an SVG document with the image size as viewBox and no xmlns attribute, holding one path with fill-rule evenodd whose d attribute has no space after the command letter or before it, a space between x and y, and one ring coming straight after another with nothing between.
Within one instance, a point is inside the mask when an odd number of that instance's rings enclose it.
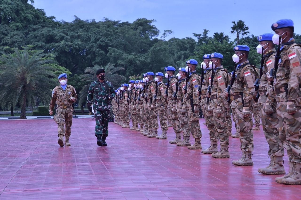
<instances>
[{"instance_id":1,"label":"walking man in black beret, black mask and dark green camouflage","mask_svg":"<svg viewBox=\"0 0 301 200\"><path fill-rule=\"evenodd\" d=\"M98 80L91 83L87 96L89 112L92 112L92 103L95 110L95 136L98 146L107 146L106 137L108 136L110 100L114 98L115 91L110 82L105 80L104 69L96 71Z\"/></svg>"}]
</instances>

